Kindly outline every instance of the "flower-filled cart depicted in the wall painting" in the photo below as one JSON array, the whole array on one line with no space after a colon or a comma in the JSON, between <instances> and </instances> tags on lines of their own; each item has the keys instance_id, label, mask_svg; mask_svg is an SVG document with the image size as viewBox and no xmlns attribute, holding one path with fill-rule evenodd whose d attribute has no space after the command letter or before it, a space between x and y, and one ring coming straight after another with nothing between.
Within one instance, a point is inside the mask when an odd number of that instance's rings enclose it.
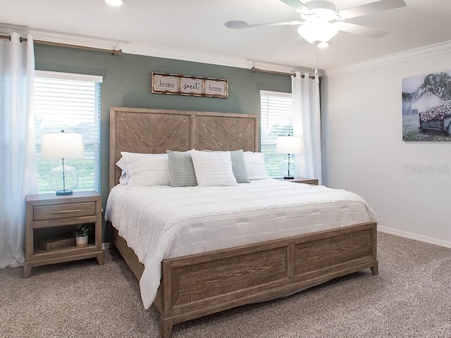
<instances>
[{"instance_id":1,"label":"flower-filled cart depicted in the wall painting","mask_svg":"<svg viewBox=\"0 0 451 338\"><path fill-rule=\"evenodd\" d=\"M451 102L447 101L439 106L433 106L424 113L419 113L421 132L428 130L451 134Z\"/></svg>"}]
</instances>

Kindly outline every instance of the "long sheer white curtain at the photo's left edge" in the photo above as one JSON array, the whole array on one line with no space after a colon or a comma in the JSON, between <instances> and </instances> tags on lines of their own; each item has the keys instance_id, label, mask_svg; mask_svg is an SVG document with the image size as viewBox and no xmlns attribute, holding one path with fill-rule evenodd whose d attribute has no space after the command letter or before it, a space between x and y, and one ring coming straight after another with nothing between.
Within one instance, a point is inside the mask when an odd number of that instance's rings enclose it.
<instances>
[{"instance_id":1,"label":"long sheer white curtain at the photo's left edge","mask_svg":"<svg viewBox=\"0 0 451 338\"><path fill-rule=\"evenodd\" d=\"M33 39L0 39L0 268L23 265L25 196L36 192Z\"/></svg>"}]
</instances>

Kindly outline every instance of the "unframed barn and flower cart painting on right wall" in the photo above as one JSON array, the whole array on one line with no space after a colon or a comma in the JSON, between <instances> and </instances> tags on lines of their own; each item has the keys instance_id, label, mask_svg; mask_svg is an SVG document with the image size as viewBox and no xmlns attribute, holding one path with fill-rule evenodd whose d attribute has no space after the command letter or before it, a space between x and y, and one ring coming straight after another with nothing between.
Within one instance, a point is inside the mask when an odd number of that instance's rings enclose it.
<instances>
[{"instance_id":1,"label":"unframed barn and flower cart painting on right wall","mask_svg":"<svg viewBox=\"0 0 451 338\"><path fill-rule=\"evenodd\" d=\"M451 71L402 79L403 141L451 141Z\"/></svg>"}]
</instances>

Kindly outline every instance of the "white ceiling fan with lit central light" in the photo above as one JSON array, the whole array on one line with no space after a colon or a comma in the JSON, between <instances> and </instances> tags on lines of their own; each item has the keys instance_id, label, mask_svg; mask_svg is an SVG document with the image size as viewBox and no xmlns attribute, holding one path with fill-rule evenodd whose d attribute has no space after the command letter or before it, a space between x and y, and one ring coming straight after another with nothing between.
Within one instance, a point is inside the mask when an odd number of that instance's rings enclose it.
<instances>
[{"instance_id":1,"label":"white ceiling fan with lit central light","mask_svg":"<svg viewBox=\"0 0 451 338\"><path fill-rule=\"evenodd\" d=\"M304 44L306 41L319 47L326 47L330 39L339 31L364 35L379 39L387 34L383 30L348 23L346 20L357 16L388 11L389 9L406 6L404 0L380 0L335 11L335 4L329 0L313 0L305 4L298 0L280 0L297 11L302 21L288 21L285 23L257 23L249 25L245 21L232 20L225 23L226 27L241 29L250 27L297 25L300 37L296 44Z\"/></svg>"}]
</instances>

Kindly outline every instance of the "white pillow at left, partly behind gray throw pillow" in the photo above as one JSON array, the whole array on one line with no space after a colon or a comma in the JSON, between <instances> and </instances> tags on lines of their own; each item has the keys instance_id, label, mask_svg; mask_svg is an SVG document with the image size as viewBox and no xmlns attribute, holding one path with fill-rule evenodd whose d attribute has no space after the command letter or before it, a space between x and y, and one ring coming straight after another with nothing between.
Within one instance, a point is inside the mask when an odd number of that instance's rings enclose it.
<instances>
[{"instance_id":1,"label":"white pillow at left, partly behind gray throw pillow","mask_svg":"<svg viewBox=\"0 0 451 338\"><path fill-rule=\"evenodd\" d=\"M170 185L168 154L139 154L121 151L128 185L152 187Z\"/></svg>"}]
</instances>

